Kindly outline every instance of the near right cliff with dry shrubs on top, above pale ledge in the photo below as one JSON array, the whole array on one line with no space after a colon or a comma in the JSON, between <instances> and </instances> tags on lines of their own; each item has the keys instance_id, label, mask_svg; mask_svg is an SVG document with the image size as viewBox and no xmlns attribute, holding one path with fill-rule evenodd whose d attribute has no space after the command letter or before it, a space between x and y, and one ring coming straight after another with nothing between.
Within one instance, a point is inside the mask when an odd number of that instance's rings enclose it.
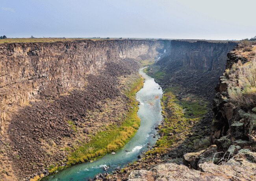
<instances>
[{"instance_id":1,"label":"near right cliff with dry shrubs on top, above pale ledge","mask_svg":"<svg viewBox=\"0 0 256 181\"><path fill-rule=\"evenodd\" d=\"M246 145L245 143L250 144L248 142L252 139L250 135L256 130L255 92L253 92L255 85L250 83L250 78L255 77L254 51L254 46L236 47L228 53L226 72L219 78L217 94L213 99L214 120L211 125L213 143L226 136L232 141L244 142L243 146ZM245 92L246 89L252 91L248 93Z\"/></svg>"}]
</instances>

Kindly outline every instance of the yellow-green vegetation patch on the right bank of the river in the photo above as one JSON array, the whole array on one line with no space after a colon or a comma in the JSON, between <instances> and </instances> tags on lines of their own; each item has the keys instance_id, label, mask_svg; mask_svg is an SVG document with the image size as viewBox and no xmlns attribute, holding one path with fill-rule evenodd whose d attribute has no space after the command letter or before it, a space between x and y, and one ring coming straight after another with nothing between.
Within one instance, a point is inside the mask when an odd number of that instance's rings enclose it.
<instances>
[{"instance_id":1,"label":"yellow-green vegetation patch on the right bank of the river","mask_svg":"<svg viewBox=\"0 0 256 181\"><path fill-rule=\"evenodd\" d=\"M187 95L178 100L174 94L180 92L180 89L180 87L171 87L165 90L161 99L162 115L164 117L164 125L159 129L161 138L156 142L156 147L147 151L146 155L167 153L178 146L190 133L191 125L199 122L207 113L208 103L194 95ZM193 142L193 140L196 141ZM197 149L202 147L203 144L208 144L208 142L209 140L197 135L191 137L189 144Z\"/></svg>"}]
</instances>

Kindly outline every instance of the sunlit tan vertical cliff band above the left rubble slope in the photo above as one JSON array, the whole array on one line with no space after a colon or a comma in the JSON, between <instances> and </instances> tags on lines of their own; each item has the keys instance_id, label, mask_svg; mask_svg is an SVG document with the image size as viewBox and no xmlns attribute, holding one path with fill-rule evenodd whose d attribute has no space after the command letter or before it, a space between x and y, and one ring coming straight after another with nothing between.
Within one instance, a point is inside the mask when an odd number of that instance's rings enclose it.
<instances>
[{"instance_id":1,"label":"sunlit tan vertical cliff band above the left rubble slope","mask_svg":"<svg viewBox=\"0 0 256 181\"><path fill-rule=\"evenodd\" d=\"M12 107L82 88L106 63L154 57L158 47L135 40L0 44L0 130Z\"/></svg>"}]
</instances>

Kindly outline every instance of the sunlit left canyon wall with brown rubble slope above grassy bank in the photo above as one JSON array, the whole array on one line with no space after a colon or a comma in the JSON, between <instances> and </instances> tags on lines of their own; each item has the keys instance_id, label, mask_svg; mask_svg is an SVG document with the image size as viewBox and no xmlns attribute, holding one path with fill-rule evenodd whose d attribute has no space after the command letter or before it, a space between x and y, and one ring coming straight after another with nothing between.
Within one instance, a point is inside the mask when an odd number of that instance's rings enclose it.
<instances>
[{"instance_id":1,"label":"sunlit left canyon wall with brown rubble slope above grassy bank","mask_svg":"<svg viewBox=\"0 0 256 181\"><path fill-rule=\"evenodd\" d=\"M0 179L47 174L102 125L120 124L139 61L162 47L137 40L0 44Z\"/></svg>"}]
</instances>

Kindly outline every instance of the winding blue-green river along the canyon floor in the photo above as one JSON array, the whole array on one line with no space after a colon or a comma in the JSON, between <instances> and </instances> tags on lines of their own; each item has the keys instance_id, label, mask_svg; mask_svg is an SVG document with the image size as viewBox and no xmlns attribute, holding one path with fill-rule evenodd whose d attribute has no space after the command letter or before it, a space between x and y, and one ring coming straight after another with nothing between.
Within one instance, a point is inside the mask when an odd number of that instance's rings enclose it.
<instances>
[{"instance_id":1,"label":"winding blue-green river along the canyon floor","mask_svg":"<svg viewBox=\"0 0 256 181\"><path fill-rule=\"evenodd\" d=\"M137 115L141 119L141 125L135 136L115 155L105 155L100 159L90 163L81 163L70 166L56 174L49 175L43 180L47 181L82 181L89 178L93 179L96 174L108 172L111 173L117 167L123 167L128 163L137 160L141 152L147 151L148 146L153 146L158 139L156 125L160 124L162 89L153 78L139 70L139 74L145 79L143 88L137 94L136 99L139 101L139 110ZM156 137L154 138L154 135ZM108 167L104 171L103 167Z\"/></svg>"}]
</instances>

